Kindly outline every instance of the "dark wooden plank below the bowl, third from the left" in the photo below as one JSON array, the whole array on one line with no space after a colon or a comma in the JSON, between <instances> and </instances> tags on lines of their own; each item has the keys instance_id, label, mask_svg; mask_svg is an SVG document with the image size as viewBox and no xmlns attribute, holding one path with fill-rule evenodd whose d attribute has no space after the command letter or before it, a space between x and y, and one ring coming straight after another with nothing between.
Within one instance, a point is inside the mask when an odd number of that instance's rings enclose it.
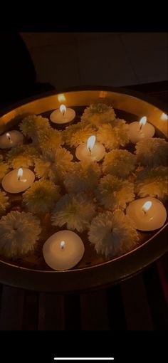
<instances>
[{"instance_id":1,"label":"dark wooden plank below the bowl, third from the left","mask_svg":"<svg viewBox=\"0 0 168 363\"><path fill-rule=\"evenodd\" d=\"M80 295L82 330L110 330L106 290Z\"/></svg>"}]
</instances>

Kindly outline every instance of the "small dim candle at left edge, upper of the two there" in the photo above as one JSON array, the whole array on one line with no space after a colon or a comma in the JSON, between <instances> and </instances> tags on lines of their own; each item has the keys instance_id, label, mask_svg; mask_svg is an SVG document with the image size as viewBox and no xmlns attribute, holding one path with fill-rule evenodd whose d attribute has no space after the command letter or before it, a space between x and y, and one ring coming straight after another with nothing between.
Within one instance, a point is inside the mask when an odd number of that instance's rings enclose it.
<instances>
[{"instance_id":1,"label":"small dim candle at left edge, upper of the two there","mask_svg":"<svg viewBox=\"0 0 168 363\"><path fill-rule=\"evenodd\" d=\"M0 148L10 149L23 141L23 135L17 130L6 132L0 136Z\"/></svg>"}]
</instances>

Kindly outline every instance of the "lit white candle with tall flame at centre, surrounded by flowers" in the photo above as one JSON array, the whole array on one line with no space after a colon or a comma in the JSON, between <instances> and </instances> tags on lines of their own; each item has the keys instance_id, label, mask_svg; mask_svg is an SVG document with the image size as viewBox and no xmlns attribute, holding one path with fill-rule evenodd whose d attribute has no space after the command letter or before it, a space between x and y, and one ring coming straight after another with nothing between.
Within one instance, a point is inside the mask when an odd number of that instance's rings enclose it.
<instances>
[{"instance_id":1,"label":"lit white candle with tall flame at centre, surrounded by flowers","mask_svg":"<svg viewBox=\"0 0 168 363\"><path fill-rule=\"evenodd\" d=\"M105 156L105 147L100 142L95 142L95 135L88 138L88 142L76 148L75 155L78 160L99 162Z\"/></svg>"}]
</instances>

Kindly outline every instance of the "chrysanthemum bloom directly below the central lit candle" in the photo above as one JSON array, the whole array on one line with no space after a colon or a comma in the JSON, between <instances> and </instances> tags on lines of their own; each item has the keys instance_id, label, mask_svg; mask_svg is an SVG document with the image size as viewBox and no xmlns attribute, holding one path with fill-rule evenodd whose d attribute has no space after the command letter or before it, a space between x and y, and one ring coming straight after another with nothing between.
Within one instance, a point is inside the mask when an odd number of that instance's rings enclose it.
<instances>
[{"instance_id":1,"label":"chrysanthemum bloom directly below the central lit candle","mask_svg":"<svg viewBox=\"0 0 168 363\"><path fill-rule=\"evenodd\" d=\"M72 172L66 174L64 184L68 193L92 191L98 186L100 165L90 162L76 162Z\"/></svg>"}]
</instances>

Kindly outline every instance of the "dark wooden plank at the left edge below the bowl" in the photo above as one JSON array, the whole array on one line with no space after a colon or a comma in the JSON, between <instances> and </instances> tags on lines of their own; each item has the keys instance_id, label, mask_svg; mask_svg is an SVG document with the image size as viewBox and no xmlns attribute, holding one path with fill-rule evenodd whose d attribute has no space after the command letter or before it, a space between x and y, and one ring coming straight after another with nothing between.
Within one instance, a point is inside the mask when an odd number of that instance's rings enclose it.
<instances>
[{"instance_id":1,"label":"dark wooden plank at the left edge below the bowl","mask_svg":"<svg viewBox=\"0 0 168 363\"><path fill-rule=\"evenodd\" d=\"M24 291L3 285L1 294L0 330L21 330Z\"/></svg>"}]
</instances>

